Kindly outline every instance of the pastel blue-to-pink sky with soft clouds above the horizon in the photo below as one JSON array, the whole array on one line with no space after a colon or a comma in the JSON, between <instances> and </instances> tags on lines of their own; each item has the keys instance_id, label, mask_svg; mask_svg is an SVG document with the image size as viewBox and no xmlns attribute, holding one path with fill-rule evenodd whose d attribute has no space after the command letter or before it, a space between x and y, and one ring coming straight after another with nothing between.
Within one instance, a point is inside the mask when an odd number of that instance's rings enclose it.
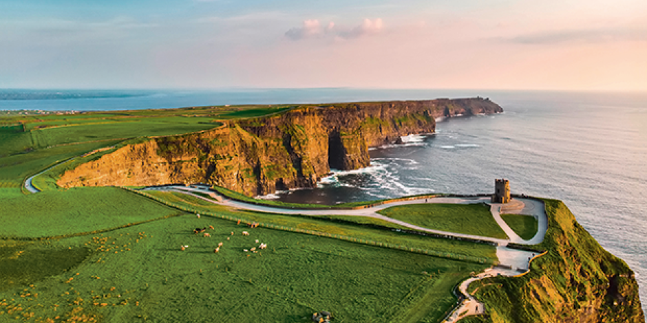
<instances>
[{"instance_id":1,"label":"pastel blue-to-pink sky with soft clouds above the horizon","mask_svg":"<svg viewBox=\"0 0 647 323\"><path fill-rule=\"evenodd\" d=\"M0 0L0 88L647 91L645 0Z\"/></svg>"}]
</instances>

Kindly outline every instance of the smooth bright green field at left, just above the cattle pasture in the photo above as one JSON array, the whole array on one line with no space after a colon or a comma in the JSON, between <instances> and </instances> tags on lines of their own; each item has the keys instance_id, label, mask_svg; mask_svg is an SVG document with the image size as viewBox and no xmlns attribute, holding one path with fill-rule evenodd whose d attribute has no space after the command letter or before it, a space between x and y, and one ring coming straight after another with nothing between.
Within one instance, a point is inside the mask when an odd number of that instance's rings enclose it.
<instances>
[{"instance_id":1,"label":"smooth bright green field at left, just above the cattle pasture","mask_svg":"<svg viewBox=\"0 0 647 323\"><path fill-rule=\"evenodd\" d=\"M178 214L119 188L72 188L38 194L0 194L0 237L38 238L112 227Z\"/></svg>"}]
</instances>

